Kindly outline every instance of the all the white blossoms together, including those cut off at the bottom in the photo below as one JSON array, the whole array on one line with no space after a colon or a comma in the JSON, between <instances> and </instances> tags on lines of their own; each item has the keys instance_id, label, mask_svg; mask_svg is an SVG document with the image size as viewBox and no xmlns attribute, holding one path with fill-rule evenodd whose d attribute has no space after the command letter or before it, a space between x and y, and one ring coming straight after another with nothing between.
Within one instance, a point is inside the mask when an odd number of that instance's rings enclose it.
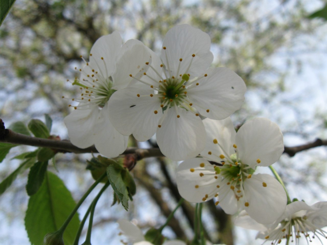
<instances>
[{"instance_id":1,"label":"all the white blossoms together, including those cut off at the bottom","mask_svg":"<svg viewBox=\"0 0 327 245\"><path fill-rule=\"evenodd\" d=\"M208 34L187 24L167 32L160 57L140 41L123 44L118 32L99 38L72 83L80 95L64 119L71 142L116 157L126 150L129 135L138 141L156 135L165 156L183 160L176 180L187 201L216 198L227 214L245 210L244 217L260 223L271 244L298 241L301 234L310 241L310 231L326 236L325 203L286 206L281 180L255 173L282 155L283 135L264 118L246 122L236 133L229 116L242 106L246 86L227 68L209 68L210 45ZM133 244L151 245L129 221L119 225Z\"/></svg>"}]
</instances>

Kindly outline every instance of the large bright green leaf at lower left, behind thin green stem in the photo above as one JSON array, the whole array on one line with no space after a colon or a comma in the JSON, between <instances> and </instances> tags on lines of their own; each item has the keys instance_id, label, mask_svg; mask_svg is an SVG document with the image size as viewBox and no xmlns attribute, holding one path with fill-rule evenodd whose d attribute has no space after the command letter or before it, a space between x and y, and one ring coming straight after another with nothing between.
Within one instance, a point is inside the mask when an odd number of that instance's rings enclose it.
<instances>
[{"instance_id":1,"label":"large bright green leaf at lower left, behind thin green stem","mask_svg":"<svg viewBox=\"0 0 327 245\"><path fill-rule=\"evenodd\" d=\"M25 228L31 244L40 245L46 234L57 231L75 205L62 180L54 173L46 172L40 189L29 198L26 210ZM63 234L65 244L73 244L78 227L78 215L75 214Z\"/></svg>"}]
</instances>

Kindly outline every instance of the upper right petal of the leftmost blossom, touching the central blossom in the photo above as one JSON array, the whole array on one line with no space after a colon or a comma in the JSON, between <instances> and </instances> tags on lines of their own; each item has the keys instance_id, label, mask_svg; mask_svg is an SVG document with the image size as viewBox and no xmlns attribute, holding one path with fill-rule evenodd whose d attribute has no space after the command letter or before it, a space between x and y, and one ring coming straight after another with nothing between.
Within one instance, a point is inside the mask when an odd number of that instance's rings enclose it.
<instances>
[{"instance_id":1,"label":"upper right petal of the leftmost blossom, touching the central blossom","mask_svg":"<svg viewBox=\"0 0 327 245\"><path fill-rule=\"evenodd\" d=\"M112 74L112 89L123 89L133 80L129 75L141 78L149 68L146 62L151 63L151 54L146 46L138 40L129 40L122 46L117 58L116 70Z\"/></svg>"}]
</instances>

